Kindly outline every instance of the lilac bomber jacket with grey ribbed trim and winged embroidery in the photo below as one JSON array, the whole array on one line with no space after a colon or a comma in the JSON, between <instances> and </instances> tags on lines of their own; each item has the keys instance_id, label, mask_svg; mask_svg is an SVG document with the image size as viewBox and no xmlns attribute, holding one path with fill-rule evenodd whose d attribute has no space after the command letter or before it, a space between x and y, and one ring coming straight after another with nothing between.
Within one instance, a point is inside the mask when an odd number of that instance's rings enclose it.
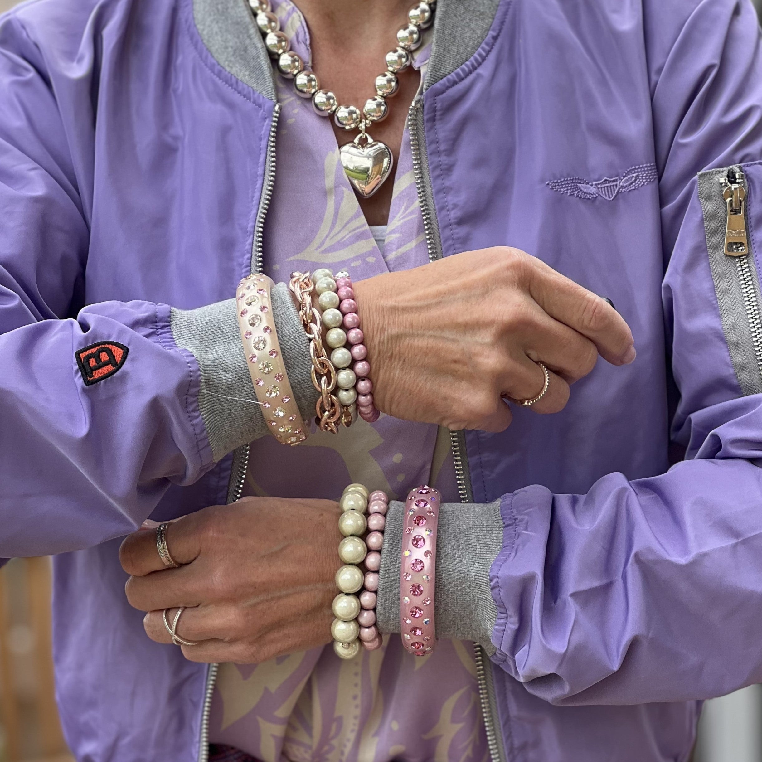
<instances>
[{"instance_id":1,"label":"lilac bomber jacket with grey ribbed trim and winged embroidery","mask_svg":"<svg viewBox=\"0 0 762 762\"><path fill-rule=\"evenodd\" d=\"M439 0L436 24L410 116L431 256L523 248L639 350L559 415L453 437L463 513L498 521L453 534L491 554L459 592L475 639L492 622L491 755L686 760L698 700L762 680L754 11ZM32 0L0 17L0 85L0 556L60 554L78 760L203 760L207 669L146 639L116 551L225 501L258 434L216 395L245 373L226 300L261 254L271 67L243 0Z\"/></svg>"}]
</instances>

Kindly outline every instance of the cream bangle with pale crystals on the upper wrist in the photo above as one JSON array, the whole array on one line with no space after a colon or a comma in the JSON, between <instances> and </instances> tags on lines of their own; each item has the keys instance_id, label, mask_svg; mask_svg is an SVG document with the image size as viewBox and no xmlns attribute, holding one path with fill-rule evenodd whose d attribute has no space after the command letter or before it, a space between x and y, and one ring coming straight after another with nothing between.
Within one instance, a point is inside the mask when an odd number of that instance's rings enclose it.
<instances>
[{"instance_id":1,"label":"cream bangle with pale crystals on the upper wrist","mask_svg":"<svg viewBox=\"0 0 762 762\"><path fill-rule=\"evenodd\" d=\"M295 445L307 438L302 414L278 344L270 298L273 281L249 275L239 283L235 307L251 383L267 430L281 443Z\"/></svg>"}]
</instances>

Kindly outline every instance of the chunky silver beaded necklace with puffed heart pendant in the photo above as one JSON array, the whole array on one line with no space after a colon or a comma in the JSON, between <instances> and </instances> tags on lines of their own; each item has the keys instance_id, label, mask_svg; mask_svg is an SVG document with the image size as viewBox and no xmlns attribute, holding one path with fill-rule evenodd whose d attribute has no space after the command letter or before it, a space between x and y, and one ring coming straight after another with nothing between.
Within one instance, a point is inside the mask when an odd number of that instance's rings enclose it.
<instances>
[{"instance_id":1,"label":"chunky silver beaded necklace with puffed heart pendant","mask_svg":"<svg viewBox=\"0 0 762 762\"><path fill-rule=\"evenodd\" d=\"M334 117L335 123L344 130L359 130L352 141L341 146L341 165L354 191L363 198L373 196L392 171L392 151L385 143L367 133L367 126L386 119L391 98L399 88L397 74L411 63L410 53L421 44L421 30L434 21L436 0L417 2L408 11L408 24L397 32L397 47L386 53L386 71L376 77L376 94L368 98L362 110L357 106L340 106L330 90L320 88L315 72L304 66L301 56L289 50L291 41L280 31L280 21L272 12L270 0L248 0L255 14L257 26L264 35L264 46L271 57L277 59L278 71L293 79L296 93L302 98L312 98L312 108L321 117Z\"/></svg>"}]
</instances>

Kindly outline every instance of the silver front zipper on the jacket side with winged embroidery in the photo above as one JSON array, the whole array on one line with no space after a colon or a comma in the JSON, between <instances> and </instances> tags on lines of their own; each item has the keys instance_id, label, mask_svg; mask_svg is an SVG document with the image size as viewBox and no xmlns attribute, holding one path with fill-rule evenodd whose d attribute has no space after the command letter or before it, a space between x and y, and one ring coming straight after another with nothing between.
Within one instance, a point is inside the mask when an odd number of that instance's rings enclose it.
<instances>
[{"instance_id":1,"label":"silver front zipper on the jacket side with winged embroidery","mask_svg":"<svg viewBox=\"0 0 762 762\"><path fill-rule=\"evenodd\" d=\"M421 207L421 218L424 221L426 248L430 261L442 258L442 243L439 229L434 219L434 191L428 173L428 158L421 151L421 137L424 134L423 98L419 95L412 102L408 111L408 130L410 131L410 148L413 157L413 173L415 187L418 191L418 205ZM458 485L460 502L473 501L471 475L469 474L468 458L466 456L466 434L464 431L450 432L450 445L453 450L453 465ZM495 690L492 685L491 671L488 669L489 657L481 645L474 643L474 661L476 664L476 680L479 684L479 703L482 706L485 735L489 756L492 762L505 762L503 738L495 731Z\"/></svg>"}]
</instances>

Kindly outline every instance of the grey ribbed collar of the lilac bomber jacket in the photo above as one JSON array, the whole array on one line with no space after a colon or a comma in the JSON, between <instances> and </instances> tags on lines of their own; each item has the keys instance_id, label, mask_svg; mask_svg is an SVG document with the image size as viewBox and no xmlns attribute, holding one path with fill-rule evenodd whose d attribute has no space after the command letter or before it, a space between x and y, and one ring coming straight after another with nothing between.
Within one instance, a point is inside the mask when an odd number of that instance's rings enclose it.
<instances>
[{"instance_id":1,"label":"grey ribbed collar of the lilac bomber jacket","mask_svg":"<svg viewBox=\"0 0 762 762\"><path fill-rule=\"evenodd\" d=\"M501 2L507 0L438 0L424 89L473 56L487 36ZM273 68L246 0L193 0L193 7L200 37L219 65L265 98L276 101Z\"/></svg>"}]
</instances>

